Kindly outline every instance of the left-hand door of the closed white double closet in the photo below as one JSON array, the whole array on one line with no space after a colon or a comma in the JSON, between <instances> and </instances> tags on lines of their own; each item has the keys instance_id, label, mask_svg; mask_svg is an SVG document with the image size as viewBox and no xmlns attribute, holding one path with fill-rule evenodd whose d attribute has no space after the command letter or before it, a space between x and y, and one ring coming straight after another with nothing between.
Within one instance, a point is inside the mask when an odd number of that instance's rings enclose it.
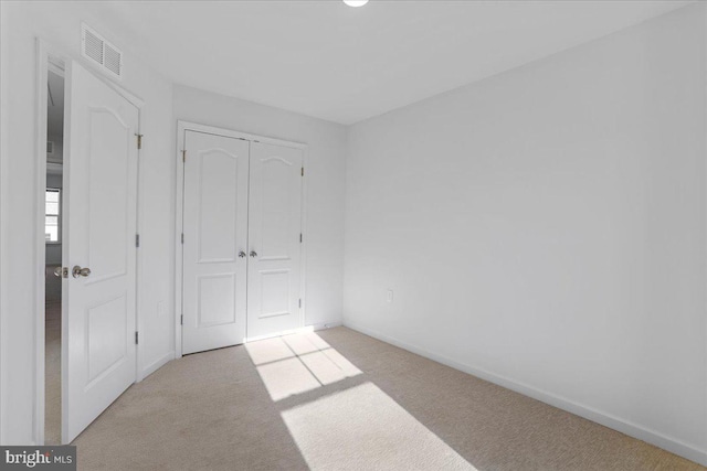
<instances>
[{"instance_id":1,"label":"left-hand door of the closed white double closet","mask_svg":"<svg viewBox=\"0 0 707 471\"><path fill-rule=\"evenodd\" d=\"M182 353L243 343L249 141L187 130Z\"/></svg>"}]
</instances>

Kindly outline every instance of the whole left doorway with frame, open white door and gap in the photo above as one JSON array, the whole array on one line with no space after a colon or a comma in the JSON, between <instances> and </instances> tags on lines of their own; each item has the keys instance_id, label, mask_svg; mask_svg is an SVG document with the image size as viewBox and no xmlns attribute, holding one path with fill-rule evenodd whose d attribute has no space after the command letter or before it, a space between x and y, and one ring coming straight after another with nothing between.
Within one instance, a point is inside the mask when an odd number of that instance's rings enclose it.
<instances>
[{"instance_id":1,"label":"whole left doorway with frame, open white door and gap","mask_svg":"<svg viewBox=\"0 0 707 471\"><path fill-rule=\"evenodd\" d=\"M35 437L44 445L71 442L137 379L143 103L59 57L39 42Z\"/></svg>"}]
</instances>

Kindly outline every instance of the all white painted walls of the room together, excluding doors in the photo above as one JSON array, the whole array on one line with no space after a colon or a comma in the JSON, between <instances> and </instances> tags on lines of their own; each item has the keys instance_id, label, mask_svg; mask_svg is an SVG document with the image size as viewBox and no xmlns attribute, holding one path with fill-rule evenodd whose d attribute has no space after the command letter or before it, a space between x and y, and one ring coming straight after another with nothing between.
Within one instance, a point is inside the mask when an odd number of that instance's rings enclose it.
<instances>
[{"instance_id":1,"label":"all white painted walls of the room together, excluding doors","mask_svg":"<svg viewBox=\"0 0 707 471\"><path fill-rule=\"evenodd\" d=\"M309 144L307 324L345 251L350 327L707 463L704 4L354 126L348 163L338 125L172 93L110 18L0 4L0 442L35 437L34 36L78 56L85 20L146 100L140 375L173 355L184 119Z\"/></svg>"}]
</instances>

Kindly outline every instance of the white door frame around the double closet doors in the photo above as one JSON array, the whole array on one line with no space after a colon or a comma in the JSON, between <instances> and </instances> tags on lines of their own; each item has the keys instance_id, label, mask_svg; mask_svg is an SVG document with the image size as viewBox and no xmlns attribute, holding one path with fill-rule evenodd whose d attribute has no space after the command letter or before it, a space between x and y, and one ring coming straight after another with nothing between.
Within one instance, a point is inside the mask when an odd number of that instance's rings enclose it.
<instances>
[{"instance_id":1,"label":"white door frame around the double closet doors","mask_svg":"<svg viewBox=\"0 0 707 471\"><path fill-rule=\"evenodd\" d=\"M177 192L175 204L175 358L182 357L182 344L181 344L181 318L183 315L183 292L182 292L182 277L183 277L183 259L182 259L182 242L181 234L184 218L184 165L183 165L183 151L184 151L184 131L203 132L208 135L224 136L235 139L243 139L251 142L263 142L274 146L289 147L302 150L302 167L305 169L305 174L302 180L302 212L300 212L300 227L303 240L300 244L300 277L299 277L299 292L302 296L302 309L299 309L299 328L305 328L305 312L307 309L307 296L306 296L306 254L307 254L307 149L308 146L303 142L288 141L283 139L271 138L267 136L258 136L250 132L236 131L233 129L219 128L214 126L201 125L198 122L177 120ZM249 156L250 158L250 156ZM247 321L246 321L247 322ZM247 333L247 325L246 325ZM249 339L246 339L247 342Z\"/></svg>"}]
</instances>

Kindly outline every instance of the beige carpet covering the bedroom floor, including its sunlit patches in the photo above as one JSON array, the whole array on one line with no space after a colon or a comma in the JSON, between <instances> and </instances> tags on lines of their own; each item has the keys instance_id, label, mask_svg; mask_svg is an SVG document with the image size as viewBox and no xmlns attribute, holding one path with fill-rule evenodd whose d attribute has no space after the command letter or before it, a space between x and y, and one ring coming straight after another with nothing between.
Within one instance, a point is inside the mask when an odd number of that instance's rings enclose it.
<instances>
[{"instance_id":1,"label":"beige carpet covering the bedroom floor, including its sunlit patches","mask_svg":"<svg viewBox=\"0 0 707 471\"><path fill-rule=\"evenodd\" d=\"M704 470L345 328L186 356L76 440L82 470Z\"/></svg>"}]
</instances>

